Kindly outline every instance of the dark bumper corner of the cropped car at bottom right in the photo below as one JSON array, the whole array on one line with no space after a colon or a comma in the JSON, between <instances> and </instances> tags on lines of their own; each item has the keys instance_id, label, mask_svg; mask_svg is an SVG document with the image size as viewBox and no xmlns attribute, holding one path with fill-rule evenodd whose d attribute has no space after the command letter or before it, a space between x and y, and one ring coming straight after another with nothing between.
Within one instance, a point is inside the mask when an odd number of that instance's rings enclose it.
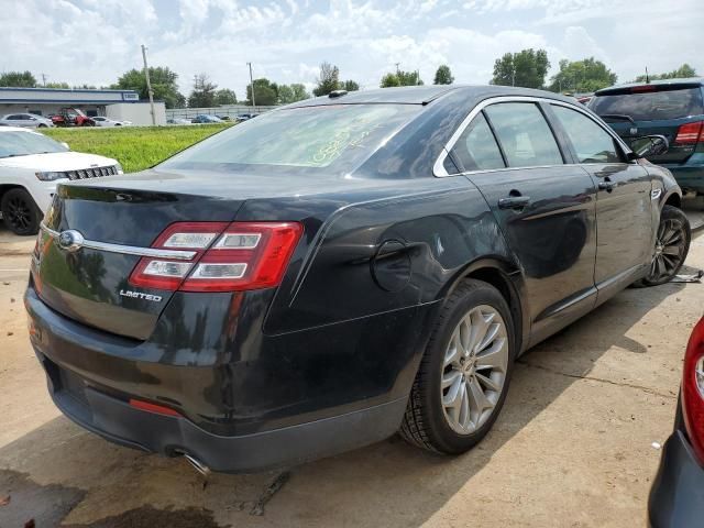
<instances>
[{"instance_id":1,"label":"dark bumper corner of the cropped car at bottom right","mask_svg":"<svg viewBox=\"0 0 704 528\"><path fill-rule=\"evenodd\" d=\"M650 490L648 519L652 528L701 526L704 519L704 469L680 430L662 450Z\"/></svg>"}]
</instances>

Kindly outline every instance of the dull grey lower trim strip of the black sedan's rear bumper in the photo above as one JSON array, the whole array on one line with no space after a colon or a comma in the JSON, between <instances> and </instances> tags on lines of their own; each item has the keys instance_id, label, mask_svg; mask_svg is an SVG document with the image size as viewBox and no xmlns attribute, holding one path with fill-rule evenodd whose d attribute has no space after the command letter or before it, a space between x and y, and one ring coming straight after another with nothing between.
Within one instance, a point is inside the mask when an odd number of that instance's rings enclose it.
<instances>
[{"instance_id":1,"label":"dull grey lower trim strip of the black sedan's rear bumper","mask_svg":"<svg viewBox=\"0 0 704 528\"><path fill-rule=\"evenodd\" d=\"M188 454L213 471L248 473L299 464L383 440L396 431L406 398L341 416L253 435L224 437L184 417L132 407L92 388L37 353L52 399L79 426L133 449Z\"/></svg>"}]
</instances>

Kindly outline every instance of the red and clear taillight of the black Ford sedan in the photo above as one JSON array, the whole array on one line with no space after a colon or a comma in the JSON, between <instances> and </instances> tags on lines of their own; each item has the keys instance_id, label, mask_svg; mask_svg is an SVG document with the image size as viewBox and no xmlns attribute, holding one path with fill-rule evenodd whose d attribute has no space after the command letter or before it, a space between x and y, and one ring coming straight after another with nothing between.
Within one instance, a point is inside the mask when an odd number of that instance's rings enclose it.
<instances>
[{"instance_id":1,"label":"red and clear taillight of the black Ford sedan","mask_svg":"<svg viewBox=\"0 0 704 528\"><path fill-rule=\"evenodd\" d=\"M152 248L185 250L193 258L143 257L130 284L184 292L235 292L278 285L302 226L297 222L178 222Z\"/></svg>"}]
</instances>

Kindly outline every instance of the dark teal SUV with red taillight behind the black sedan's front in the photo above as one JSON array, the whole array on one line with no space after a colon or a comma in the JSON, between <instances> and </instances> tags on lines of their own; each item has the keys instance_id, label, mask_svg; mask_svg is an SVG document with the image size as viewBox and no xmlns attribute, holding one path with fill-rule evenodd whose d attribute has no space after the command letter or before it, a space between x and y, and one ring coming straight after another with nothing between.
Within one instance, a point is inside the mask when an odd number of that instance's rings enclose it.
<instances>
[{"instance_id":1,"label":"dark teal SUV with red taillight behind the black sedan's front","mask_svg":"<svg viewBox=\"0 0 704 528\"><path fill-rule=\"evenodd\" d=\"M684 191L704 194L704 78L614 86L598 90L588 107L626 143L664 135L670 147L649 160L672 172Z\"/></svg>"}]
</instances>

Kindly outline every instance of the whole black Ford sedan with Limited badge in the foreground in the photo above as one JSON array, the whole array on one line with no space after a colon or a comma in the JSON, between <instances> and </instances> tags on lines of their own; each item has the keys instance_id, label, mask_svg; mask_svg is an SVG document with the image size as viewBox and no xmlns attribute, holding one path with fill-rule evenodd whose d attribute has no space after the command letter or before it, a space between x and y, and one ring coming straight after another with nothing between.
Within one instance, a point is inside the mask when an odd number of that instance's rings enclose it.
<instances>
[{"instance_id":1,"label":"whole black Ford sedan with Limited badge in the foreground","mask_svg":"<svg viewBox=\"0 0 704 528\"><path fill-rule=\"evenodd\" d=\"M59 186L30 334L68 417L200 468L298 463L398 430L461 453L518 355L678 272L680 199L574 99L334 92L150 170Z\"/></svg>"}]
</instances>

